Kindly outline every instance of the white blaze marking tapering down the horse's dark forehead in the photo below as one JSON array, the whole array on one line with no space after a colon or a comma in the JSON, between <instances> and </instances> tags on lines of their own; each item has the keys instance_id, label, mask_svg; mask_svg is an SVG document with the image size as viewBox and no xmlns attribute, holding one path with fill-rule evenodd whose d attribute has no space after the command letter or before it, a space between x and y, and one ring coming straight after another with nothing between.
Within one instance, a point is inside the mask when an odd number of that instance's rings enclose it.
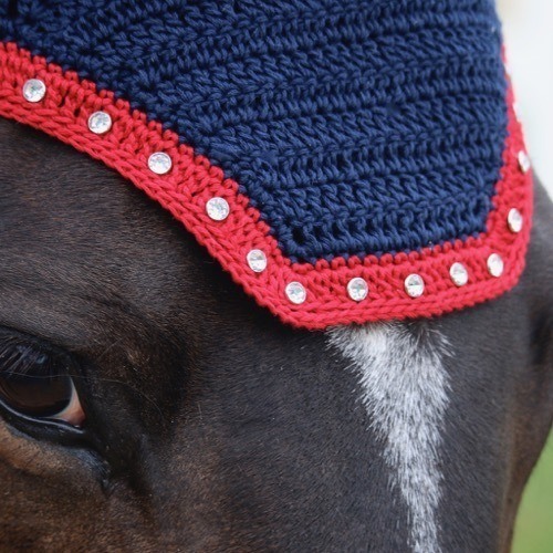
<instances>
[{"instance_id":1,"label":"white blaze marking tapering down the horse's dark forehead","mask_svg":"<svg viewBox=\"0 0 553 553\"><path fill-rule=\"evenodd\" d=\"M399 323L333 328L328 336L359 375L371 426L385 442L392 482L407 503L409 545L416 553L437 553L438 448L448 376L441 363L446 340L426 333L425 344Z\"/></svg>"}]
</instances>

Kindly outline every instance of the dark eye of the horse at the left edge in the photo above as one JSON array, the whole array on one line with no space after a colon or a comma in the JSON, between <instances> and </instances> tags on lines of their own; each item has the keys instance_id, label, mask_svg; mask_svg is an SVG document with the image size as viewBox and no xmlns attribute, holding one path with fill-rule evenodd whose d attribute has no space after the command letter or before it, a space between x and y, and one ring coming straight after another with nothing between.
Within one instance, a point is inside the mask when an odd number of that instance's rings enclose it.
<instances>
[{"instance_id":1,"label":"dark eye of the horse at the left edge","mask_svg":"<svg viewBox=\"0 0 553 553\"><path fill-rule=\"evenodd\" d=\"M75 427L85 419L67 359L15 338L0 340L0 401L34 419Z\"/></svg>"}]
</instances>

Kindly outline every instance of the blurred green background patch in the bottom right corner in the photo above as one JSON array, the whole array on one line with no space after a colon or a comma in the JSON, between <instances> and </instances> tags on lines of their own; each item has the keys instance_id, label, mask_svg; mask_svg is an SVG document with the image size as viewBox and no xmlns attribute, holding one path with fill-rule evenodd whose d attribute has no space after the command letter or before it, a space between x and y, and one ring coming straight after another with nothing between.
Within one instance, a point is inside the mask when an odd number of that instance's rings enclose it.
<instances>
[{"instance_id":1,"label":"blurred green background patch in the bottom right corner","mask_svg":"<svg viewBox=\"0 0 553 553\"><path fill-rule=\"evenodd\" d=\"M553 553L553 436L522 497L512 553Z\"/></svg>"}]
</instances>

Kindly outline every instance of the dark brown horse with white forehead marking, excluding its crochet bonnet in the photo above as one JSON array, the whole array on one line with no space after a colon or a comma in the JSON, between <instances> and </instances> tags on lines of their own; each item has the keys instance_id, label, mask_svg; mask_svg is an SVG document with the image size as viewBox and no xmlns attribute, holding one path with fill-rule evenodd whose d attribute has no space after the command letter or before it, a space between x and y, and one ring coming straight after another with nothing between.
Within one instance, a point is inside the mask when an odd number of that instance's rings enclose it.
<instances>
[{"instance_id":1,"label":"dark brown horse with white forehead marking, excluding its crochet bonnet","mask_svg":"<svg viewBox=\"0 0 553 553\"><path fill-rule=\"evenodd\" d=\"M2 551L509 551L553 417L538 180L512 290L307 330L119 171L8 118L0 152Z\"/></svg>"}]
</instances>

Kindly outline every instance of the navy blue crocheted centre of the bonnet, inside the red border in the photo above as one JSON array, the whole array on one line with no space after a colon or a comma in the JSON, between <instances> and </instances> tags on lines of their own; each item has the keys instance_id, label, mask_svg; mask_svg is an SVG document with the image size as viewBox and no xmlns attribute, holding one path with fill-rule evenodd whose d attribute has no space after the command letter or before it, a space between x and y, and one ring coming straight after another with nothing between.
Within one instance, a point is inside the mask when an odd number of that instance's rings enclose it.
<instances>
[{"instance_id":1,"label":"navy blue crocheted centre of the bonnet, inside the red border","mask_svg":"<svg viewBox=\"0 0 553 553\"><path fill-rule=\"evenodd\" d=\"M0 40L177 132L293 260L484 230L507 134L491 0L0 0Z\"/></svg>"}]
</instances>

